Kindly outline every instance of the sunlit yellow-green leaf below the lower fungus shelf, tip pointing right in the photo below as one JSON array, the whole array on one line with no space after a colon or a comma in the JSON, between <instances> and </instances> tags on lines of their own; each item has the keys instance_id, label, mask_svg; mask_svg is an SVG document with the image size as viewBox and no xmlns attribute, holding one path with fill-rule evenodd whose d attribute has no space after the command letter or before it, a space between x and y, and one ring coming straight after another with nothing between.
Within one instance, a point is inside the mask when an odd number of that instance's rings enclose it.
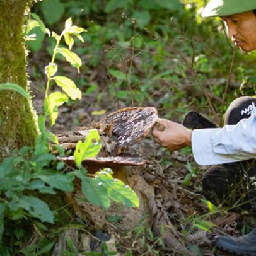
<instances>
[{"instance_id":1,"label":"sunlit yellow-green leaf below the lower fungus shelf, tip pointing right","mask_svg":"<svg viewBox=\"0 0 256 256\"><path fill-rule=\"evenodd\" d=\"M97 173L95 178L98 182L102 182L102 185L107 189L108 195L115 202L123 202L128 207L139 207L139 197L124 182L113 178L113 176L103 170Z\"/></svg>"}]
</instances>

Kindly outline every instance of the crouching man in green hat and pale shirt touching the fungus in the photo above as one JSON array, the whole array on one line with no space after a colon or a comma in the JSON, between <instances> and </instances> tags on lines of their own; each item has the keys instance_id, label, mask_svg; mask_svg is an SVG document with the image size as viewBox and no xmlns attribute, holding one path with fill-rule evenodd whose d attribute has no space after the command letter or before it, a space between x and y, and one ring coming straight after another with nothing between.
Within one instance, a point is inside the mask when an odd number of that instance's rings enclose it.
<instances>
[{"instance_id":1,"label":"crouching man in green hat and pale shirt touching the fungus","mask_svg":"<svg viewBox=\"0 0 256 256\"><path fill-rule=\"evenodd\" d=\"M255 0L211 0L202 16L220 16L237 47L244 52L256 49ZM158 119L153 129L154 140L170 151L192 146L199 165L216 165L202 178L203 194L209 201L215 204L250 201L256 209L255 182L248 178L256 177L255 106L256 98L237 98L228 107L223 128L197 112L187 113L182 124ZM216 236L213 244L236 255L256 255L256 229L239 238Z\"/></svg>"}]
</instances>

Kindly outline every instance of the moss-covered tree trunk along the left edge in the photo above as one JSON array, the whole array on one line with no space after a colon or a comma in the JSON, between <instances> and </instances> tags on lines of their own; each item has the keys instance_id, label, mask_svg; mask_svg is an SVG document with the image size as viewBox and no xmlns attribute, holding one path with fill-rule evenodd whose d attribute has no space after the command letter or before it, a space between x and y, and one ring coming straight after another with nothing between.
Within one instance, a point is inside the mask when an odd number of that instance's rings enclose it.
<instances>
[{"instance_id":1,"label":"moss-covered tree trunk along the left edge","mask_svg":"<svg viewBox=\"0 0 256 256\"><path fill-rule=\"evenodd\" d=\"M0 84L28 91L23 26L33 0L0 0ZM31 102L15 91L0 90L0 160L13 149L32 146L38 136Z\"/></svg>"}]
</instances>

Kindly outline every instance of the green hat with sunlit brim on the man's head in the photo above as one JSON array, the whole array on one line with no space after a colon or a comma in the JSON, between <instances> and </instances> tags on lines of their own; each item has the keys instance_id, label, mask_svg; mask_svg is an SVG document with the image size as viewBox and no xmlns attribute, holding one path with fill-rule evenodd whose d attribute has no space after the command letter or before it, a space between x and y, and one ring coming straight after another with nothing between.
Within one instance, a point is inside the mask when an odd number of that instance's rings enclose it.
<instances>
[{"instance_id":1,"label":"green hat with sunlit brim on the man's head","mask_svg":"<svg viewBox=\"0 0 256 256\"><path fill-rule=\"evenodd\" d=\"M254 9L256 9L255 0L210 0L203 9L202 16L229 16Z\"/></svg>"}]
</instances>

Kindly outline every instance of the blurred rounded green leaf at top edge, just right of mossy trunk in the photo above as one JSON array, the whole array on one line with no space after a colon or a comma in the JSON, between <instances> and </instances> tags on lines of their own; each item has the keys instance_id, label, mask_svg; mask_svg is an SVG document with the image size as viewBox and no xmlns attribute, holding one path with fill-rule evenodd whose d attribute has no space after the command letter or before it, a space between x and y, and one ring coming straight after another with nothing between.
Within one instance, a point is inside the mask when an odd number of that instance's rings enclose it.
<instances>
[{"instance_id":1,"label":"blurred rounded green leaf at top edge, just right of mossy trunk","mask_svg":"<svg viewBox=\"0 0 256 256\"><path fill-rule=\"evenodd\" d=\"M42 2L42 12L49 25L53 25L59 21L64 11L64 4L59 0L44 0Z\"/></svg>"}]
</instances>

